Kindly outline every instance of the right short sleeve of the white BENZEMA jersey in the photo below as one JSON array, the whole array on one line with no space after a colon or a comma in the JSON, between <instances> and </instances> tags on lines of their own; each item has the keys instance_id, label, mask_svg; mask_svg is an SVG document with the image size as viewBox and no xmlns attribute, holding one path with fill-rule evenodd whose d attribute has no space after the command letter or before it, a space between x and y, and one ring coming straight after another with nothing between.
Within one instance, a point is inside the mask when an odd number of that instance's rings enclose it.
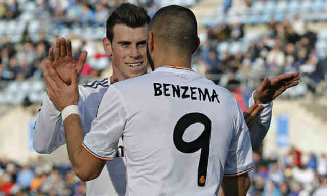
<instances>
[{"instance_id":1,"label":"right short sleeve of the white BENZEMA jersey","mask_svg":"<svg viewBox=\"0 0 327 196\"><path fill-rule=\"evenodd\" d=\"M237 105L236 132L231 140L224 167L224 176L229 177L242 175L253 169L254 166L249 129L245 124L242 110L239 104Z\"/></svg>"}]
</instances>

